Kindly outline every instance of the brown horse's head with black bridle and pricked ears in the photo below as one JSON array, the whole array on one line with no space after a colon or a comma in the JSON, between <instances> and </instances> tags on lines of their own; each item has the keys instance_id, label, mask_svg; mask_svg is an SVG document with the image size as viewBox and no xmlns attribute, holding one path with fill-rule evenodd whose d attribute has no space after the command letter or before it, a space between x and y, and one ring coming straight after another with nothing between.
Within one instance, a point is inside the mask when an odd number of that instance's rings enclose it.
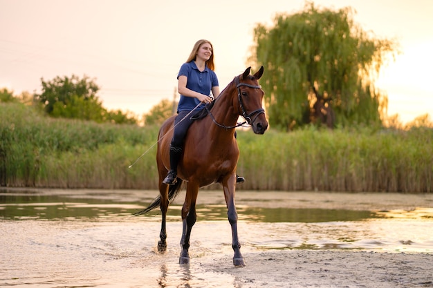
<instances>
[{"instance_id":1,"label":"brown horse's head with black bridle and pricked ears","mask_svg":"<svg viewBox=\"0 0 433 288\"><path fill-rule=\"evenodd\" d=\"M258 82L264 68L261 66L254 75L250 75L250 70L251 67L246 68L243 74L235 78L239 115L252 126L254 133L264 134L268 128L268 121L263 108L264 91Z\"/></svg>"}]
</instances>

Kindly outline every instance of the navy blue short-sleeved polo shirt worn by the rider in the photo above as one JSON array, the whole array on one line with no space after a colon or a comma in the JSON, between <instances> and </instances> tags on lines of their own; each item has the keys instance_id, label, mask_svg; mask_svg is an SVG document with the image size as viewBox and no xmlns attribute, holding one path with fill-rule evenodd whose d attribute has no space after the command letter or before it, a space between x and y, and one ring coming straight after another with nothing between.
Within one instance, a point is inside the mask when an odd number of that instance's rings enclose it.
<instances>
[{"instance_id":1,"label":"navy blue short-sleeved polo shirt worn by the rider","mask_svg":"<svg viewBox=\"0 0 433 288\"><path fill-rule=\"evenodd\" d=\"M216 73L213 70L210 70L208 66L205 66L205 70L201 72L194 61L185 63L181 66L181 70L177 75L177 79L179 76L186 76L187 80L187 88L198 93L204 95L210 95L212 87L219 86L218 77L216 77ZM192 111L198 104L200 103L199 99L195 97L187 97L181 95L181 99L178 104L178 112L179 111ZM196 108L196 111L203 109L204 104Z\"/></svg>"}]
</instances>

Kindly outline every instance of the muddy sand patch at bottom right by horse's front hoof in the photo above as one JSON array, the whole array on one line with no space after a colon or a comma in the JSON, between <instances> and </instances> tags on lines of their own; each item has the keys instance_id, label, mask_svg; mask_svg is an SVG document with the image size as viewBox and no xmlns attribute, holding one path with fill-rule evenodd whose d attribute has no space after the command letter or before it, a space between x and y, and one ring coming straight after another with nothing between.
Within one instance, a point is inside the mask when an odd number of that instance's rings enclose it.
<instances>
[{"instance_id":1,"label":"muddy sand patch at bottom right by horse's front hoof","mask_svg":"<svg viewBox=\"0 0 433 288\"><path fill-rule=\"evenodd\" d=\"M215 260L210 271L233 276L235 287L433 287L433 255L293 250L246 255L233 269ZM238 285L238 286L236 286Z\"/></svg>"}]
</instances>

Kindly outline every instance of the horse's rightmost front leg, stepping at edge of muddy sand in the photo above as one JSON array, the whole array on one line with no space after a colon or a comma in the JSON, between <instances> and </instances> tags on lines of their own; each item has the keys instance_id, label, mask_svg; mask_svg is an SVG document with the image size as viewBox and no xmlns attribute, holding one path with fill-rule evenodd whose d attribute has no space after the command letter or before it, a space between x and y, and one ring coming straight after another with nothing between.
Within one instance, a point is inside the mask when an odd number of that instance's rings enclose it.
<instances>
[{"instance_id":1,"label":"horse's rightmost front leg, stepping at edge of muddy sand","mask_svg":"<svg viewBox=\"0 0 433 288\"><path fill-rule=\"evenodd\" d=\"M225 203L227 204L228 209L228 222L230 222L230 226L232 227L232 248L234 251L233 265L242 267L245 266L245 262L243 261L243 256L241 254L241 243L239 243L239 238L237 236L237 211L234 204L235 185L236 175L232 175L223 187Z\"/></svg>"}]
</instances>

